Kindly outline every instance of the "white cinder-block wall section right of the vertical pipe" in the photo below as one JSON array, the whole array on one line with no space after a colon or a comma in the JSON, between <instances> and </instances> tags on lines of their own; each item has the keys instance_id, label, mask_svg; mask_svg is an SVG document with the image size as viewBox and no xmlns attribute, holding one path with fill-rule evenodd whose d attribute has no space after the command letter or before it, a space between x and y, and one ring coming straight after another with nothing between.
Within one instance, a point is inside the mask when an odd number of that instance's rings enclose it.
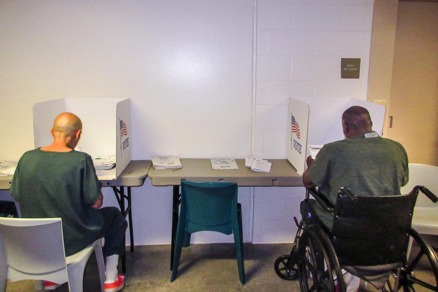
<instances>
[{"instance_id":1,"label":"white cinder-block wall section right of the vertical pipe","mask_svg":"<svg viewBox=\"0 0 438 292\"><path fill-rule=\"evenodd\" d=\"M285 158L289 97L366 100L372 11L372 0L258 1L256 157ZM361 59L359 79L341 79L341 58ZM253 242L292 241L304 195L256 188Z\"/></svg>"}]
</instances>

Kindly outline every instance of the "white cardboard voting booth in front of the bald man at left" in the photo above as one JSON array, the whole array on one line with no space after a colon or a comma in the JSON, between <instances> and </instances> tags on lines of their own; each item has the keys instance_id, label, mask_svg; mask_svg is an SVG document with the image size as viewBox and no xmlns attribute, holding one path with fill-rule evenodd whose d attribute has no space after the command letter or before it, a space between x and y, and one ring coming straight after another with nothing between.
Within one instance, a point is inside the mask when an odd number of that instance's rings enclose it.
<instances>
[{"instance_id":1,"label":"white cardboard voting booth in front of the bald man at left","mask_svg":"<svg viewBox=\"0 0 438 292\"><path fill-rule=\"evenodd\" d=\"M116 156L116 167L99 179L116 179L131 162L131 109L129 99L78 98L38 102L33 106L35 148L52 144L50 128L60 113L71 112L82 121L77 147L92 158Z\"/></svg>"}]
</instances>

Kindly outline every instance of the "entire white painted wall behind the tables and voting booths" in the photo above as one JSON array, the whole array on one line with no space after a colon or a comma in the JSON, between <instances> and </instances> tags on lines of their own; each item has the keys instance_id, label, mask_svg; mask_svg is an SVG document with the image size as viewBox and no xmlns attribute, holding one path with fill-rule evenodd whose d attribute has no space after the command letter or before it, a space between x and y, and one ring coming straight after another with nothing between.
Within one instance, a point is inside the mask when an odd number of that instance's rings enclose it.
<instances>
[{"instance_id":1,"label":"entire white painted wall behind the tables and voting booths","mask_svg":"<svg viewBox=\"0 0 438 292\"><path fill-rule=\"evenodd\" d=\"M288 97L365 99L372 3L1 1L0 160L33 148L35 102L74 97L131 99L133 159L285 158ZM341 56L362 59L359 80L340 79ZM171 193L149 179L132 190L136 244L170 243ZM292 241L303 197L302 188L255 188L253 242ZM251 188L239 188L239 201L251 240Z\"/></svg>"}]
</instances>

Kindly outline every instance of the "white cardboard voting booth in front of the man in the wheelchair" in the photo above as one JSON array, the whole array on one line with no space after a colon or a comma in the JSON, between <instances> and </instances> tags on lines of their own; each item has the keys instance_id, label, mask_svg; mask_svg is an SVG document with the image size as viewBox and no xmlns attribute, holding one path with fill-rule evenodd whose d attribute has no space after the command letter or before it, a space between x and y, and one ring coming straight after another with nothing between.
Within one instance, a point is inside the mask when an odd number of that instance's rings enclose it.
<instances>
[{"instance_id":1,"label":"white cardboard voting booth in front of the man in the wheelchair","mask_svg":"<svg viewBox=\"0 0 438 292\"><path fill-rule=\"evenodd\" d=\"M382 134L385 106L360 99L300 98L289 99L289 123L286 158L302 175L308 145L324 145L344 139L341 118L350 106L363 106L373 122L373 130Z\"/></svg>"}]
</instances>

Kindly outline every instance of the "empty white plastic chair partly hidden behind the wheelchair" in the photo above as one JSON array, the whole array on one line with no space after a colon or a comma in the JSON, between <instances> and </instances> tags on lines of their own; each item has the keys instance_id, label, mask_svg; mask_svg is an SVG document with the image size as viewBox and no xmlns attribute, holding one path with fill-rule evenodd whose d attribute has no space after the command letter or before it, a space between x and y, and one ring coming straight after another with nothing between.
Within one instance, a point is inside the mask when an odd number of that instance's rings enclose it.
<instances>
[{"instance_id":1,"label":"empty white plastic chair partly hidden behind the wheelchair","mask_svg":"<svg viewBox=\"0 0 438 292\"><path fill-rule=\"evenodd\" d=\"M438 196L438 166L409 163L409 182L400 190L409 193L414 186L425 186ZM438 203L421 192L413 211L412 228L420 234L438 235Z\"/></svg>"}]
</instances>

